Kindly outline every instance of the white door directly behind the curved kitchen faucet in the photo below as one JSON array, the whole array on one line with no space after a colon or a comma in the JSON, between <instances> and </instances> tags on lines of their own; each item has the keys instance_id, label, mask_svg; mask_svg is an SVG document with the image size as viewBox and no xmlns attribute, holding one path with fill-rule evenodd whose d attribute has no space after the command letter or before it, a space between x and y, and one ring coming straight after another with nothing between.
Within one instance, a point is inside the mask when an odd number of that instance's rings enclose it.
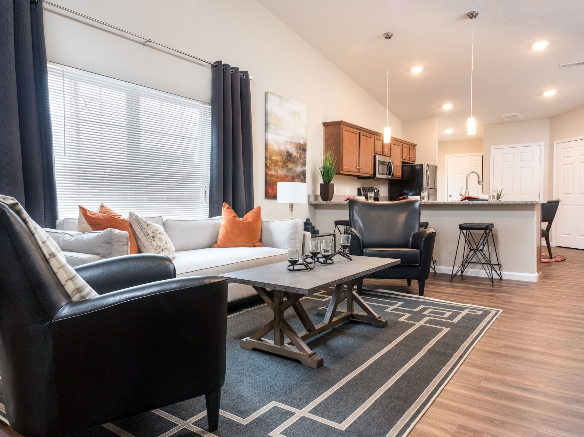
<instances>
[{"instance_id":1,"label":"white door directly behind the curved kitchen faucet","mask_svg":"<svg viewBox=\"0 0 584 437\"><path fill-rule=\"evenodd\" d=\"M446 196L447 200L460 200L460 191L464 191L468 172L477 172L482 178L482 153L475 155L446 156ZM468 178L468 193L481 194L478 177L471 174Z\"/></svg>"}]
</instances>

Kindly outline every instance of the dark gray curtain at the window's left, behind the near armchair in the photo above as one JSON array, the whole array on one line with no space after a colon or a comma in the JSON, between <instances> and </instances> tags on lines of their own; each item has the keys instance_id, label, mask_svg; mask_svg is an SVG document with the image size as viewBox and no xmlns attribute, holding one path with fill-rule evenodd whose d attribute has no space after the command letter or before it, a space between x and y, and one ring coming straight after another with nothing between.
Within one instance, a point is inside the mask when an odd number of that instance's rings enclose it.
<instances>
[{"instance_id":1,"label":"dark gray curtain at the window's left, behind the near armchair","mask_svg":"<svg viewBox=\"0 0 584 437\"><path fill-rule=\"evenodd\" d=\"M57 190L42 0L0 0L0 193L54 228Z\"/></svg>"}]
</instances>

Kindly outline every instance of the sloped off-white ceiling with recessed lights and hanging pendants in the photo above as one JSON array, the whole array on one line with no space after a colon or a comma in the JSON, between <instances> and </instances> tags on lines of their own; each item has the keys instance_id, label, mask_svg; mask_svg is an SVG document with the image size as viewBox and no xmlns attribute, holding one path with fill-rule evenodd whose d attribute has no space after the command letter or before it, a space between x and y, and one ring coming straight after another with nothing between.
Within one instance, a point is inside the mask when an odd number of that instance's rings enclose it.
<instances>
[{"instance_id":1,"label":"sloped off-white ceiling with recessed lights and hanging pendants","mask_svg":"<svg viewBox=\"0 0 584 437\"><path fill-rule=\"evenodd\" d=\"M583 0L258 0L401 120L439 117L439 140L482 137L482 125L555 116L584 105ZM470 11L474 20L473 116L470 116ZM549 46L535 51L540 40ZM411 68L422 66L413 74ZM551 97L546 90L557 90ZM450 110L442 109L451 103ZM509 123L509 122L506 122ZM445 134L447 128L453 129Z\"/></svg>"}]
</instances>

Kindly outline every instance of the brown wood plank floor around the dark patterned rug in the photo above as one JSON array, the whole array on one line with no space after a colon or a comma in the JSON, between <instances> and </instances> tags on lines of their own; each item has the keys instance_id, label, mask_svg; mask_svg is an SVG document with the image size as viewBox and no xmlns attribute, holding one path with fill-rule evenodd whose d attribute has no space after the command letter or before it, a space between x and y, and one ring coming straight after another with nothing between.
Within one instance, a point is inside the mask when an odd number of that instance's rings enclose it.
<instances>
[{"instance_id":1,"label":"brown wood plank floor around the dark patterned rug","mask_svg":"<svg viewBox=\"0 0 584 437\"><path fill-rule=\"evenodd\" d=\"M584 251L542 264L536 283L432 275L429 298L500 308L410 437L584 436ZM405 281L366 286L417 293ZM373 430L372 430L373 431ZM0 422L0 437L18 436ZM371 433L371 437L375 434Z\"/></svg>"}]
</instances>

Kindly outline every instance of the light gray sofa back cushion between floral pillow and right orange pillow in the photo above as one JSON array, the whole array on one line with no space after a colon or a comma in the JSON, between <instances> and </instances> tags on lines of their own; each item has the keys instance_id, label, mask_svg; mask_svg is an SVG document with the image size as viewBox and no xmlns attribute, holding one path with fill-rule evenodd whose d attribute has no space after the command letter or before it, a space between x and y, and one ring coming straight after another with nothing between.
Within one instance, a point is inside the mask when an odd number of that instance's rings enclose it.
<instances>
[{"instance_id":1,"label":"light gray sofa back cushion between floral pillow and right orange pillow","mask_svg":"<svg viewBox=\"0 0 584 437\"><path fill-rule=\"evenodd\" d=\"M175 245L175 251L208 249L217 243L221 217L208 219L166 219L164 230Z\"/></svg>"}]
</instances>

